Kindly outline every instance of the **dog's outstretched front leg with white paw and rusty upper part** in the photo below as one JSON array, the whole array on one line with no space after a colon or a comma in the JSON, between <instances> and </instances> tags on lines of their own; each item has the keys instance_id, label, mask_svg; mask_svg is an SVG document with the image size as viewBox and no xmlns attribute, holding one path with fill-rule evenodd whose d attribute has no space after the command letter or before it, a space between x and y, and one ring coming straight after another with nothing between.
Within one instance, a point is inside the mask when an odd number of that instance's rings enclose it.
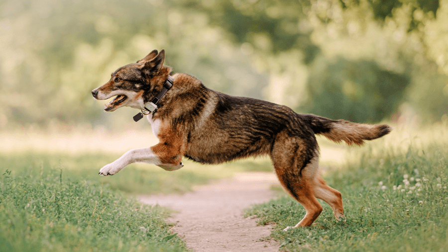
<instances>
[{"instance_id":1,"label":"dog's outstretched front leg with white paw and rusty upper part","mask_svg":"<svg viewBox=\"0 0 448 252\"><path fill-rule=\"evenodd\" d=\"M180 148L176 148L180 151ZM119 159L100 169L100 175L113 175L125 168L127 165L135 162L144 162L154 164L165 170L177 170L182 168L182 156L179 151L170 148L166 142L157 144L150 148L134 149L127 151Z\"/></svg>"}]
</instances>

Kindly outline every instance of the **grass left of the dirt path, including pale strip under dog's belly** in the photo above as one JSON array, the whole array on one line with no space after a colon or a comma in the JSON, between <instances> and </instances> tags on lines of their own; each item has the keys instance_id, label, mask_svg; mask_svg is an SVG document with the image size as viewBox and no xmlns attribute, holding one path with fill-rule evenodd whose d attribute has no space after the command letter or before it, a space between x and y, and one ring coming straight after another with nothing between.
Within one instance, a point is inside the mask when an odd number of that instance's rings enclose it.
<instances>
[{"instance_id":1,"label":"grass left of the dirt path, including pale strip under dog's belly","mask_svg":"<svg viewBox=\"0 0 448 252\"><path fill-rule=\"evenodd\" d=\"M100 176L116 154L0 154L0 251L188 251L169 212L126 194L184 193L236 171L272 170L266 159L177 171L133 164Z\"/></svg>"}]
</instances>

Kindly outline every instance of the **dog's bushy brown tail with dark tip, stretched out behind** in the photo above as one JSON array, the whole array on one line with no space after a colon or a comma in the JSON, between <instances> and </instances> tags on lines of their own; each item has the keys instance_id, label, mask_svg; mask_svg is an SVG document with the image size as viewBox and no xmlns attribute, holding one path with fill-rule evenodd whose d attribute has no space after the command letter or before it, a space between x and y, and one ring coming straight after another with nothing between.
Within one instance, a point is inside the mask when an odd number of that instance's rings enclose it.
<instances>
[{"instance_id":1,"label":"dog's bushy brown tail with dark tip, stretched out behind","mask_svg":"<svg viewBox=\"0 0 448 252\"><path fill-rule=\"evenodd\" d=\"M345 120L331 120L313 114L302 116L315 134L323 135L336 143L344 141L348 145L363 145L364 140L380 138L392 130L391 127L384 124L370 125Z\"/></svg>"}]
</instances>

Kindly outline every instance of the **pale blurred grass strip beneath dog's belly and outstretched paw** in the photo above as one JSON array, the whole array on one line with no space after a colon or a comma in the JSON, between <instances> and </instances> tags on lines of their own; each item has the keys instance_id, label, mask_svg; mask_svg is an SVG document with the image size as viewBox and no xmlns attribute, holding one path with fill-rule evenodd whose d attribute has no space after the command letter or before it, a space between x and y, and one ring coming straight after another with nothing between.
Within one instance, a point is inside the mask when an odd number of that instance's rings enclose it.
<instances>
[{"instance_id":1,"label":"pale blurred grass strip beneath dog's belly and outstretched paw","mask_svg":"<svg viewBox=\"0 0 448 252\"><path fill-rule=\"evenodd\" d=\"M194 185L206 184L211 179L231 176L238 171L272 171L268 159L244 160L218 166L200 165L184 159L184 168L165 171L150 164L131 164L113 176L100 176L98 172L119 155L105 154L0 154L0 170L9 169L13 175L31 177L62 170L63 177L73 180L97 181L110 188L130 194L184 193Z\"/></svg>"}]
</instances>

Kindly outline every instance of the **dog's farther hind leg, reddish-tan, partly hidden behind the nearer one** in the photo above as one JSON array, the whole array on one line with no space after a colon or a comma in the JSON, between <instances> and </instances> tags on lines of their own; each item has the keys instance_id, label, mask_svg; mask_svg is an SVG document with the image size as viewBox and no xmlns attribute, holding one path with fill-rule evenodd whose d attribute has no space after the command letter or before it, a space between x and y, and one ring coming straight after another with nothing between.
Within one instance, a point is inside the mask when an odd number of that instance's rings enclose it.
<instances>
[{"instance_id":1,"label":"dog's farther hind leg, reddish-tan, partly hidden behind the nearer one","mask_svg":"<svg viewBox=\"0 0 448 252\"><path fill-rule=\"evenodd\" d=\"M333 208L336 220L339 220L340 217L344 217L344 208L342 206L342 196L340 192L328 186L320 175L317 175L315 179L314 196L324 200Z\"/></svg>"}]
</instances>

